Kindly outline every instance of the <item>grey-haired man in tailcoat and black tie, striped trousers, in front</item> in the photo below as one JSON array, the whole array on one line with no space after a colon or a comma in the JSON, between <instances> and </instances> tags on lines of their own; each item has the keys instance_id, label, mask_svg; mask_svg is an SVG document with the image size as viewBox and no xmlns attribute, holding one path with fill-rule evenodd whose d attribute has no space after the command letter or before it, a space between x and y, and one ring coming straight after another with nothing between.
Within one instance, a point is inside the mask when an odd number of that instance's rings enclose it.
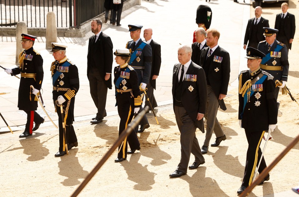
<instances>
[{"instance_id":1,"label":"grey-haired man in tailcoat and black tie, striped trousers, in front","mask_svg":"<svg viewBox=\"0 0 299 197\"><path fill-rule=\"evenodd\" d=\"M198 140L196 128L205 132L202 118L207 104L207 83L205 71L191 61L192 49L184 45L178 49L180 63L174 65L172 74L173 110L181 133L181 161L170 177L186 175L190 153L195 156L189 169L196 169L205 163Z\"/></svg>"}]
</instances>

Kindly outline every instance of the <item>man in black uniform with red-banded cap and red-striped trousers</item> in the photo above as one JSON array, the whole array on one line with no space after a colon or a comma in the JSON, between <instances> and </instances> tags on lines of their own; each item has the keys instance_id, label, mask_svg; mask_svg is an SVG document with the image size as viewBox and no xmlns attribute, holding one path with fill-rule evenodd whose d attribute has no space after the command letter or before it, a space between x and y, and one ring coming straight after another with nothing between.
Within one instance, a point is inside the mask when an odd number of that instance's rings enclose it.
<instances>
[{"instance_id":1,"label":"man in black uniform with red-banded cap and red-striped trousers","mask_svg":"<svg viewBox=\"0 0 299 197\"><path fill-rule=\"evenodd\" d=\"M24 110L27 114L27 122L25 131L19 136L20 138L32 135L32 131L39 128L40 124L45 121L38 113L37 99L35 96L39 95L41 84L44 78L43 59L39 52L33 49L36 37L29 34L22 34L22 47L24 50L19 54L20 66L13 69L7 69L7 74L14 75L21 73L18 107L19 110ZM30 87L33 86L34 90ZM33 128L33 122L35 127Z\"/></svg>"}]
</instances>

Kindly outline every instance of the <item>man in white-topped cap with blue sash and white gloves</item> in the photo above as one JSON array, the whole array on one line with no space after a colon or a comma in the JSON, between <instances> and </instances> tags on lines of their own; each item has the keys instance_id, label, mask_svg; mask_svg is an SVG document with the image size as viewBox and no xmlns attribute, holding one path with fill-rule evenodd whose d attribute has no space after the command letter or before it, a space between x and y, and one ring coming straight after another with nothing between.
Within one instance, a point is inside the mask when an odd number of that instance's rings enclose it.
<instances>
[{"instance_id":1,"label":"man in white-topped cap with blue sash and white gloves","mask_svg":"<svg viewBox=\"0 0 299 197\"><path fill-rule=\"evenodd\" d=\"M55 59L51 64L51 77L53 80L53 101L59 123L59 151L55 154L55 157L61 157L66 154L62 121L65 123L68 150L78 146L72 124L74 121L75 95L79 90L79 73L76 65L67 59L65 55L66 47L59 43L52 43L50 51L53 52ZM61 117L60 107L56 105L55 101L59 105L63 105L64 120Z\"/></svg>"}]
</instances>

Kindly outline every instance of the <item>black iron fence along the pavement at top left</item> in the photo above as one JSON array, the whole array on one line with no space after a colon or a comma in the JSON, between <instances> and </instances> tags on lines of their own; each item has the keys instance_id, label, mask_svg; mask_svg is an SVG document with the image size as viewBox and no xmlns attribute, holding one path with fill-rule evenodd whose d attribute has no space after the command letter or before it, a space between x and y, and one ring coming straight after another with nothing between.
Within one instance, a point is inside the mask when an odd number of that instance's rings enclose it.
<instances>
[{"instance_id":1,"label":"black iron fence along the pavement at top left","mask_svg":"<svg viewBox=\"0 0 299 197\"><path fill-rule=\"evenodd\" d=\"M80 28L104 11L104 0L0 0L0 26L15 27L24 21L27 27L43 28L47 13L54 12L57 27Z\"/></svg>"}]
</instances>

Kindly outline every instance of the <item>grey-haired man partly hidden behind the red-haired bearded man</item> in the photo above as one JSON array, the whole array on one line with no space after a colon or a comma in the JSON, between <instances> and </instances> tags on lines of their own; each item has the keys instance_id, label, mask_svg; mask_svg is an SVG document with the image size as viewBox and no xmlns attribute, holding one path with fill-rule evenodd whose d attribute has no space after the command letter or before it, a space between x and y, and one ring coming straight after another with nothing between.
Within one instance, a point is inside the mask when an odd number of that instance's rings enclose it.
<instances>
[{"instance_id":1,"label":"grey-haired man partly hidden behind the red-haired bearded man","mask_svg":"<svg viewBox=\"0 0 299 197\"><path fill-rule=\"evenodd\" d=\"M197 65L200 64L200 52L201 49L208 47L205 38L207 37L207 33L204 28L200 27L195 30L195 40L196 42L191 45L192 48L192 62L196 63Z\"/></svg>"}]
</instances>

